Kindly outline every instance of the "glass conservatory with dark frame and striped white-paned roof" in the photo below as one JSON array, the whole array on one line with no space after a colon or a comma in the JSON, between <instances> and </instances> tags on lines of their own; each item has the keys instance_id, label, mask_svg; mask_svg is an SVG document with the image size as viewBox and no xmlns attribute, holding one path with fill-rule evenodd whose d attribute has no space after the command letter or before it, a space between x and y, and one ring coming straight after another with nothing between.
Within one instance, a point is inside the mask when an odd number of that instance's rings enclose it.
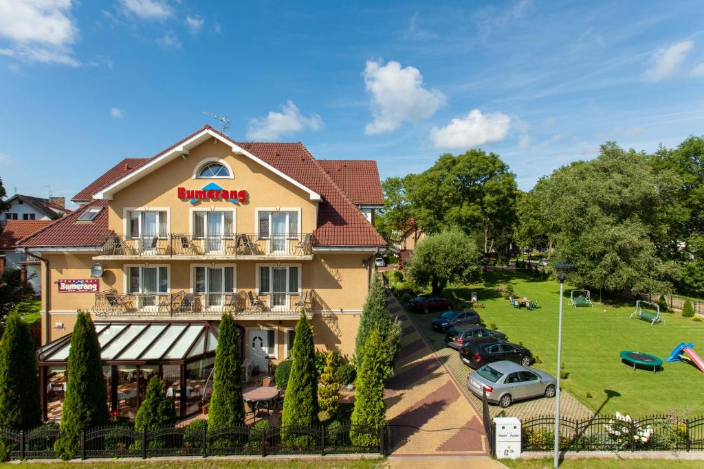
<instances>
[{"instance_id":1,"label":"glass conservatory with dark frame and striped white-paned roof","mask_svg":"<svg viewBox=\"0 0 704 469\"><path fill-rule=\"evenodd\" d=\"M177 416L201 411L213 390L218 321L96 321L95 328L113 414L134 418L152 375L164 380ZM61 419L70 342L65 335L37 351L44 420Z\"/></svg>"}]
</instances>

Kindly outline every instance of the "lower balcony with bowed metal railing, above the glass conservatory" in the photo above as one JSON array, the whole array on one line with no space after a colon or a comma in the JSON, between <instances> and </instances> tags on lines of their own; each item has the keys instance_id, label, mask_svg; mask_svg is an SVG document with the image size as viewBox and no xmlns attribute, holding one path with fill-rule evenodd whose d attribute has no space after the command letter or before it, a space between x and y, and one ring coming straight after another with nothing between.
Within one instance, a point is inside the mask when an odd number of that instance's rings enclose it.
<instances>
[{"instance_id":1,"label":"lower balcony with bowed metal railing, above the glass conservatory","mask_svg":"<svg viewBox=\"0 0 704 469\"><path fill-rule=\"evenodd\" d=\"M178 317L212 316L231 313L236 319L296 319L301 310L310 317L320 309L315 290L303 293L130 293L115 290L96 293L91 312L96 316Z\"/></svg>"}]
</instances>

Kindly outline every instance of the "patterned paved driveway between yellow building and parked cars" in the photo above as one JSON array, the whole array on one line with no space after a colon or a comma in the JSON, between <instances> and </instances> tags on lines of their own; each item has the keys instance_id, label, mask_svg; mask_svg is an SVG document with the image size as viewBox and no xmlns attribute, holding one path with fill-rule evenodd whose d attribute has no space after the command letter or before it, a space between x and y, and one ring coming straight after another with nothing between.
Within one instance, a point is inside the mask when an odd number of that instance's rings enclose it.
<instances>
[{"instance_id":1,"label":"patterned paved driveway between yellow building and parked cars","mask_svg":"<svg viewBox=\"0 0 704 469\"><path fill-rule=\"evenodd\" d=\"M467 394L406 316L396 298L387 294L386 300L389 311L398 316L403 328L396 375L386 386L391 465L395 467L403 460L405 467L415 462L428 468L432 458L423 456L474 456L472 459L476 458L477 467L503 467L487 456L489 446L482 418Z\"/></svg>"}]
</instances>

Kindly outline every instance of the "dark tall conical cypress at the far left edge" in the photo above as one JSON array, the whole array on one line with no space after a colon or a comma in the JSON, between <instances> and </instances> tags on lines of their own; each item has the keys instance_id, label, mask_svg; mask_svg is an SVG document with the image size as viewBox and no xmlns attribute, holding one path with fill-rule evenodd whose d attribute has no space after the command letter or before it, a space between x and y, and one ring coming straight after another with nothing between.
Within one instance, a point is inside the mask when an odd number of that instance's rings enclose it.
<instances>
[{"instance_id":1,"label":"dark tall conical cypress at the far left edge","mask_svg":"<svg viewBox=\"0 0 704 469\"><path fill-rule=\"evenodd\" d=\"M41 419L34 340L27 322L12 313L0 345L0 428L30 430Z\"/></svg>"}]
</instances>

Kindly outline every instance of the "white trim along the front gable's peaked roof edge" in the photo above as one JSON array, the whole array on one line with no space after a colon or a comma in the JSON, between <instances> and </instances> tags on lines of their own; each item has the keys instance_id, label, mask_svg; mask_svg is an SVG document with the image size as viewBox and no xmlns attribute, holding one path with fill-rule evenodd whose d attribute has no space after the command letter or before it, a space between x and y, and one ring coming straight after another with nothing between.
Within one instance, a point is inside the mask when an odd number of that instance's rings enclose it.
<instances>
[{"instance_id":1,"label":"white trim along the front gable's peaked roof edge","mask_svg":"<svg viewBox=\"0 0 704 469\"><path fill-rule=\"evenodd\" d=\"M161 153L161 155L158 155L156 158L151 160L150 162L146 163L146 165L142 165L139 168L135 169L133 172L130 174L127 174L126 176L123 176L122 178L118 179L118 181L113 182L110 186L107 186L106 188L103 188L101 191L97 192L95 195L93 195L94 199L99 199L99 200L112 200L113 195L121 191L123 188L129 186L132 184L134 181L138 181L139 179L142 179L142 177L146 176L147 174L150 174L151 172L155 171L156 169L162 167L165 165L167 162L172 160L173 158L177 158L178 156L184 154L184 153L189 153L189 150L191 148L194 148L195 146L200 145L204 141L210 139L210 138L218 139L222 143L225 143L227 146L230 146L234 153L239 153L241 155L244 155L248 157L249 159L258 162L260 165L265 167L266 169L269 169L271 172L274 174L277 174L278 176L281 176L283 179L286 181L289 181L291 184L294 186L302 189L303 191L306 191L310 195L310 200L322 200L320 197L320 194L316 193L315 191L312 191L311 189L307 188L306 186L303 186L300 182L296 181L295 179L291 178L290 176L287 176L287 174L284 174L283 172L279 171L279 169L276 169L272 165L269 165L268 163L264 162L260 158L256 157L252 153L249 153L249 151L244 150L244 148L241 148L240 146L235 145L232 143L232 141L223 138L219 134L216 134L210 129L203 129L200 131L198 134L192 136L190 139L187 141L184 141L178 146L175 146L174 148L171 148L170 150L165 151L164 153Z\"/></svg>"}]
</instances>

